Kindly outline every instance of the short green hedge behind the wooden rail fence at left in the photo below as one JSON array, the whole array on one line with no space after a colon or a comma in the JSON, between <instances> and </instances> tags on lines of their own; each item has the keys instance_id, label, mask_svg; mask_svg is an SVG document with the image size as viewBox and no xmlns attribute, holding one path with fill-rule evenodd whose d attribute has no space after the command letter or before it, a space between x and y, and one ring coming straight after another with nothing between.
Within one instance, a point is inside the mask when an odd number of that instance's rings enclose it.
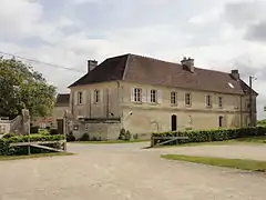
<instances>
[{"instance_id":1,"label":"short green hedge behind the wooden rail fence at left","mask_svg":"<svg viewBox=\"0 0 266 200\"><path fill-rule=\"evenodd\" d=\"M10 147L10 143L17 142L28 142L28 141L60 141L64 140L62 134L30 134L30 136L13 136L7 134L0 139L0 156L10 156L10 154L24 154L27 153L27 147ZM45 144L52 148L60 148L59 142ZM44 153L49 152L48 150L31 148L32 153Z\"/></svg>"}]
</instances>

